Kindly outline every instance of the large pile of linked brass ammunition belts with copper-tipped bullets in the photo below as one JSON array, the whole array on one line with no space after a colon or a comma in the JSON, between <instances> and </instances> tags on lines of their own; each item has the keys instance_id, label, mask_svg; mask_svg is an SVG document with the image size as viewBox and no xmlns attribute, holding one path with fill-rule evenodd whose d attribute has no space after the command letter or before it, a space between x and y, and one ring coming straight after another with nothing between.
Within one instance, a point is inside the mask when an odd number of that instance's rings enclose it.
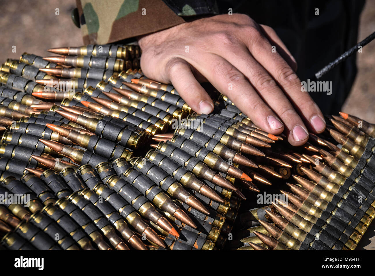
<instances>
[{"instance_id":1,"label":"large pile of linked brass ammunition belts with copper-tipped bullets","mask_svg":"<svg viewBox=\"0 0 375 276\"><path fill-rule=\"evenodd\" d=\"M1 250L354 250L375 216L375 125L300 147L225 96L197 115L137 45L0 71Z\"/></svg>"}]
</instances>

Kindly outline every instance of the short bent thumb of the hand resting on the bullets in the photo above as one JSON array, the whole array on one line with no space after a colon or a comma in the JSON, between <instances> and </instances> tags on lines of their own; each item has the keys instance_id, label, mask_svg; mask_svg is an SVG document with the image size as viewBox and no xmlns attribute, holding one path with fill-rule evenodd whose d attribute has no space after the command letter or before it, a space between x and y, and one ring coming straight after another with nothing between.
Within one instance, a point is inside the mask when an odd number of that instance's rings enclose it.
<instances>
[{"instance_id":1,"label":"short bent thumb of the hand resting on the bullets","mask_svg":"<svg viewBox=\"0 0 375 276\"><path fill-rule=\"evenodd\" d=\"M195 79L190 65L183 59L172 59L166 66L167 75L184 101L197 113L209 114L213 102Z\"/></svg>"}]
</instances>

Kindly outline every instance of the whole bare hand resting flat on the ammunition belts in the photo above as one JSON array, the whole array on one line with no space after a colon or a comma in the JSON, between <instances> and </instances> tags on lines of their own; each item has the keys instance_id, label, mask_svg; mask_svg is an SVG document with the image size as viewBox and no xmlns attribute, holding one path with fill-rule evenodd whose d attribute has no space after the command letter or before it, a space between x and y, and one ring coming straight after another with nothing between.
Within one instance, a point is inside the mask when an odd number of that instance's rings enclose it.
<instances>
[{"instance_id":1,"label":"whole bare hand resting flat on the ammunition belts","mask_svg":"<svg viewBox=\"0 0 375 276\"><path fill-rule=\"evenodd\" d=\"M307 129L321 133L326 127L317 104L301 91L293 56L271 27L247 15L202 18L138 42L145 75L172 83L198 113L213 110L199 84L209 81L264 131L280 134L285 125L291 145L304 144Z\"/></svg>"}]
</instances>

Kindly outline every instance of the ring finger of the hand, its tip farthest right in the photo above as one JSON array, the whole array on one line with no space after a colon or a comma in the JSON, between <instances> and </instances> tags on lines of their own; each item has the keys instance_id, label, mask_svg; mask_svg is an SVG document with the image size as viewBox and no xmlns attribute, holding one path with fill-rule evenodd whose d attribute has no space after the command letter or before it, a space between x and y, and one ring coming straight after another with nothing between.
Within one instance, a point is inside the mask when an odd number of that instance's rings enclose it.
<instances>
[{"instance_id":1,"label":"ring finger of the hand, its tip farthest right","mask_svg":"<svg viewBox=\"0 0 375 276\"><path fill-rule=\"evenodd\" d=\"M302 91L297 74L277 52L272 53L271 44L266 37L253 27L246 29L249 38L246 45L251 54L278 82L291 103L309 122L307 126L315 133L323 132L326 128L323 114L310 95Z\"/></svg>"}]
</instances>

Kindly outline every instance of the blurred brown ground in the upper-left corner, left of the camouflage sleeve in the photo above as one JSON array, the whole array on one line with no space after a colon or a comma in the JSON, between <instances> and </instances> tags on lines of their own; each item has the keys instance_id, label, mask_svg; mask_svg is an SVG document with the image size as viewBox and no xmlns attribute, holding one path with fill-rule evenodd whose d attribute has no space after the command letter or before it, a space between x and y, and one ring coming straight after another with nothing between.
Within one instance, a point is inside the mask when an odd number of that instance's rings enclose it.
<instances>
[{"instance_id":1,"label":"blurred brown ground in the upper-left corner, left of the camouflage sleeve","mask_svg":"<svg viewBox=\"0 0 375 276\"><path fill-rule=\"evenodd\" d=\"M71 18L75 0L2 1L0 9L0 62L19 59L24 52L52 56L46 49L83 44ZM60 15L56 15L55 9ZM12 53L12 46L16 53Z\"/></svg>"}]
</instances>

